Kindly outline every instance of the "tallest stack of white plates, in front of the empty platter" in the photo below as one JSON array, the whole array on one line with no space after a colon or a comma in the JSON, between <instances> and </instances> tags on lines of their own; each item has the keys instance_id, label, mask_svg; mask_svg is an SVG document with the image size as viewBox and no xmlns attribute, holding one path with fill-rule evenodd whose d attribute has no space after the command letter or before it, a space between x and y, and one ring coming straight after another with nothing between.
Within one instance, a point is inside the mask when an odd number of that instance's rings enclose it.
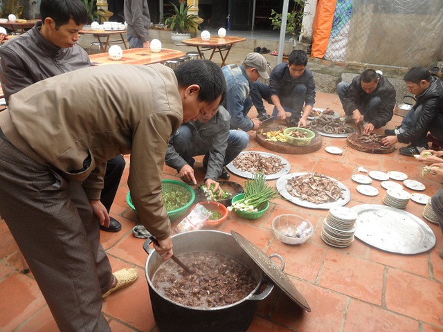
<instances>
[{"instance_id":1,"label":"tallest stack of white plates, in front of the empty platter","mask_svg":"<svg viewBox=\"0 0 443 332\"><path fill-rule=\"evenodd\" d=\"M350 208L331 208L323 221L321 238L337 248L350 246L354 241L355 221L358 214Z\"/></svg>"}]
</instances>

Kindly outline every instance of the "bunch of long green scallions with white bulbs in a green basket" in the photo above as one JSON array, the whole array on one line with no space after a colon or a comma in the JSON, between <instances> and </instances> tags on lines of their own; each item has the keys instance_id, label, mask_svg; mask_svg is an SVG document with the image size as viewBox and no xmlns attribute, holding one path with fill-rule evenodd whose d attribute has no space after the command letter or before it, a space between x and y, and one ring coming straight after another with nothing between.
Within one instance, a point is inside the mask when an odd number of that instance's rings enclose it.
<instances>
[{"instance_id":1,"label":"bunch of long green scallions with white bulbs in a green basket","mask_svg":"<svg viewBox=\"0 0 443 332\"><path fill-rule=\"evenodd\" d=\"M264 174L256 173L253 180L248 179L244 184L244 198L233 203L228 209L257 212L262 205L278 196L278 192L266 183Z\"/></svg>"}]
</instances>

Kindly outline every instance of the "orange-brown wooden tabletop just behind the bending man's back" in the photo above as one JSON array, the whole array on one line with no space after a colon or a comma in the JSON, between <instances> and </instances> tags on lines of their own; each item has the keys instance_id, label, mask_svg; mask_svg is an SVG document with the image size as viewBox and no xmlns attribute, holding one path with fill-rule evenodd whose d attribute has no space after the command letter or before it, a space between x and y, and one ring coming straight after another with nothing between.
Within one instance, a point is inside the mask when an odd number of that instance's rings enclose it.
<instances>
[{"instance_id":1,"label":"orange-brown wooden tabletop just behind the bending man's back","mask_svg":"<svg viewBox=\"0 0 443 332\"><path fill-rule=\"evenodd\" d=\"M157 62L165 62L178 57L183 57L185 53L180 50L170 50L162 48L160 53L152 53L150 48L132 48L123 50L123 57L120 60L113 60L108 53L99 53L89 55L91 64L99 66L102 64L156 64Z\"/></svg>"}]
</instances>

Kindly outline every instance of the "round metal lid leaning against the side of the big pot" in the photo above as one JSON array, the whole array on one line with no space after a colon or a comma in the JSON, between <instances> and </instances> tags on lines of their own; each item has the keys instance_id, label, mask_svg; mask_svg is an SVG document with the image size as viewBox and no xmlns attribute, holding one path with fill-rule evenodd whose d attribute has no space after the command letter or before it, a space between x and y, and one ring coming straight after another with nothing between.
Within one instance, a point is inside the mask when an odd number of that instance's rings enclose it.
<instances>
[{"instance_id":1,"label":"round metal lid leaning against the side of the big pot","mask_svg":"<svg viewBox=\"0 0 443 332\"><path fill-rule=\"evenodd\" d=\"M278 288L289 296L289 298L298 306L311 312L311 307L307 303L305 297L297 291L296 286L292 284L291 280L282 269L275 265L260 248L242 237L242 235L233 230L230 231L230 234L233 235L239 246L241 246L248 256L255 261L255 264L260 266L263 272L275 283L276 286L278 286Z\"/></svg>"}]
</instances>

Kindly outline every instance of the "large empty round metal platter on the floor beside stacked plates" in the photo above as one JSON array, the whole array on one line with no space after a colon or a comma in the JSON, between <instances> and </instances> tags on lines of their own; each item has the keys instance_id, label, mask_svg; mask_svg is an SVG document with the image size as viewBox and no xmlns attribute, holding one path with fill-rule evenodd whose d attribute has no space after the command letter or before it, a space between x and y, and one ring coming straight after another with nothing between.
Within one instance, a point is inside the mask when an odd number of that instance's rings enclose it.
<instances>
[{"instance_id":1,"label":"large empty round metal platter on the floor beside stacked plates","mask_svg":"<svg viewBox=\"0 0 443 332\"><path fill-rule=\"evenodd\" d=\"M355 236L370 246L414 255L435 246L435 234L429 226L409 212L386 205L363 204L351 210L359 214Z\"/></svg>"}]
</instances>

